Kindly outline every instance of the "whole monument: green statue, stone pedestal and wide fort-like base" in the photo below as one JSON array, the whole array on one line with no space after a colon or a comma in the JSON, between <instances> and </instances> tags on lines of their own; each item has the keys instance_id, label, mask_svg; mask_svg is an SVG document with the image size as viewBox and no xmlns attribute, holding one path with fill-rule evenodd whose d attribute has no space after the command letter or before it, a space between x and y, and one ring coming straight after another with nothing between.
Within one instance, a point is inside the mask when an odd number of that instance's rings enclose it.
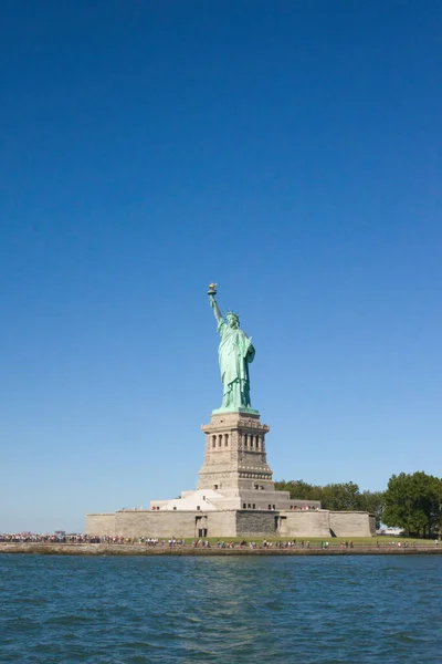
<instances>
[{"instance_id":1,"label":"whole monument: green statue, stone pedestal and wide fort-like base","mask_svg":"<svg viewBox=\"0 0 442 664\"><path fill-rule=\"evenodd\" d=\"M330 511L318 500L292 499L277 491L267 464L269 425L252 407L249 365L252 339L236 312L222 314L217 284L209 303L218 324L221 406L202 425L204 461L196 490L151 500L150 509L122 509L86 516L90 536L140 537L369 537L375 518L364 511ZM290 435L290 432L287 432Z\"/></svg>"}]
</instances>

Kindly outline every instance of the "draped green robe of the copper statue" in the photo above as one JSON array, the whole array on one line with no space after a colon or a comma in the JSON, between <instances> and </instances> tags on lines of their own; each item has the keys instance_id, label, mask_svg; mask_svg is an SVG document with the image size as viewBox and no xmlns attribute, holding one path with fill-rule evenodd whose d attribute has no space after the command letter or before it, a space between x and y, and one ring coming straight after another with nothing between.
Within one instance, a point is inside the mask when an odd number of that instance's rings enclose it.
<instances>
[{"instance_id":1,"label":"draped green robe of the copper statue","mask_svg":"<svg viewBox=\"0 0 442 664\"><path fill-rule=\"evenodd\" d=\"M221 320L219 360L223 385L223 408L250 407L249 363L253 362L255 349L251 339L240 328L231 328Z\"/></svg>"}]
</instances>

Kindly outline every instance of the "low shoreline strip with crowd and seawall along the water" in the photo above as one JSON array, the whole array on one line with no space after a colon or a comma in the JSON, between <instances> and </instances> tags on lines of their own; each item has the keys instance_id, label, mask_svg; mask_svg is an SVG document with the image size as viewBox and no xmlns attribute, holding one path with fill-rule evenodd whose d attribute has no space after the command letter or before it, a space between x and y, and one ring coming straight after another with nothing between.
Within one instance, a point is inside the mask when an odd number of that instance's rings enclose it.
<instances>
[{"instance_id":1,"label":"low shoreline strip with crowd and seawall along the water","mask_svg":"<svg viewBox=\"0 0 442 664\"><path fill-rule=\"evenodd\" d=\"M438 556L442 554L442 546L422 547L377 547L355 546L352 549L340 547L328 548L290 548L275 547L192 547L173 546L149 547L147 544L108 544L108 543L48 543L48 542L0 542L0 553L23 553L38 556Z\"/></svg>"}]
</instances>

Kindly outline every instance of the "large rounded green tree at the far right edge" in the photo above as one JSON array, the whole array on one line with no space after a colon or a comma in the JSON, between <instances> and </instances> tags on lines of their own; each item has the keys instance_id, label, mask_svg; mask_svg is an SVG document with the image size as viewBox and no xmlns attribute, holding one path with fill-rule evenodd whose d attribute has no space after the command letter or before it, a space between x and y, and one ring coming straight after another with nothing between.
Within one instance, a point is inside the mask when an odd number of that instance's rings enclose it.
<instances>
[{"instance_id":1,"label":"large rounded green tree at the far right edge","mask_svg":"<svg viewBox=\"0 0 442 664\"><path fill-rule=\"evenodd\" d=\"M400 473L389 479L383 521L400 526L409 535L430 536L442 522L442 480L423 471Z\"/></svg>"}]
</instances>

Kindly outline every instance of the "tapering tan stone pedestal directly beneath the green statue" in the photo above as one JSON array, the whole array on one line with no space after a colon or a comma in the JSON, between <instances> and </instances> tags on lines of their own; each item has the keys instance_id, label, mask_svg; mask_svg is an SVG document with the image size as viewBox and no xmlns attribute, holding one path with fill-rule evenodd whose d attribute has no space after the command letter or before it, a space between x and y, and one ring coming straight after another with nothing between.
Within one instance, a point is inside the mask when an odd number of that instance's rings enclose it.
<instances>
[{"instance_id":1,"label":"tapering tan stone pedestal directly beneath the green statue","mask_svg":"<svg viewBox=\"0 0 442 664\"><path fill-rule=\"evenodd\" d=\"M213 412L210 424L201 428L206 456L198 489L274 491L265 453L269 426L257 412Z\"/></svg>"}]
</instances>

